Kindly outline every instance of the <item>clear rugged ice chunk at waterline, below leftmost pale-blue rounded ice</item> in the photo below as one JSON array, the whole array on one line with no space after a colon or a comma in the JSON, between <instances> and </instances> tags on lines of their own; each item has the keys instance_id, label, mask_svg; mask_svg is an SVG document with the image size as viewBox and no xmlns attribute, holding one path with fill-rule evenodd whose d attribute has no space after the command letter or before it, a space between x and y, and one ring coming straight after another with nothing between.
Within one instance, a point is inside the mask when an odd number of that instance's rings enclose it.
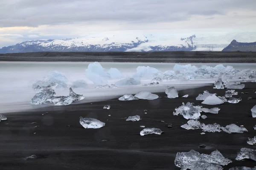
<instances>
[{"instance_id":1,"label":"clear rugged ice chunk at waterline, below leftmost pale-blue rounded ice","mask_svg":"<svg viewBox=\"0 0 256 170\"><path fill-rule=\"evenodd\" d=\"M31 99L30 104L41 105L50 103L51 99L56 96L54 89L58 83L52 83L46 87L40 87L35 96Z\"/></svg>"}]
</instances>

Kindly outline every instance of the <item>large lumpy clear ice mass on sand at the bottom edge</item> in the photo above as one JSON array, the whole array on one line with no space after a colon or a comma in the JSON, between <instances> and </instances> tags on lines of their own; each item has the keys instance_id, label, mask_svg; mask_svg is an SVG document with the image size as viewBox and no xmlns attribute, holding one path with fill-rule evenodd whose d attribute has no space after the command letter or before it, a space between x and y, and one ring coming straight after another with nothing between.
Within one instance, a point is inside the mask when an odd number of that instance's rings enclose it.
<instances>
[{"instance_id":1,"label":"large lumpy clear ice mass on sand at the bottom edge","mask_svg":"<svg viewBox=\"0 0 256 170\"><path fill-rule=\"evenodd\" d=\"M218 150L213 151L210 155L190 150L189 152L178 152L174 162L181 170L222 170L220 165L227 165L232 161L224 158ZM211 168L208 169L208 167Z\"/></svg>"}]
</instances>

